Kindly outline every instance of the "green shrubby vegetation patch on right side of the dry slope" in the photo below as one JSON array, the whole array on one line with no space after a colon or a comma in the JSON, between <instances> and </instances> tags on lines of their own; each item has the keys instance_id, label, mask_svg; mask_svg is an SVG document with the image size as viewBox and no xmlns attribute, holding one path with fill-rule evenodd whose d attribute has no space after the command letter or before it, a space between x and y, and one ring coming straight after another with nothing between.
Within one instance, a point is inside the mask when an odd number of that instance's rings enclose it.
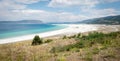
<instances>
[{"instance_id":1,"label":"green shrubby vegetation patch on right side of the dry slope","mask_svg":"<svg viewBox=\"0 0 120 61\"><path fill-rule=\"evenodd\" d=\"M104 33L99 33L99 32L92 32L92 33L89 33L89 35L87 36L82 36L80 34L77 34L76 35L73 35L73 36L70 36L68 38L74 38L77 40L77 43L75 44L70 44L70 45L66 45L66 46L63 46L63 47L53 47L53 50L57 51L57 52L62 52L62 51L70 51L71 49L73 48L86 48L86 47L92 47L94 44L101 44L103 45L104 47L106 46L112 46L114 40L112 40L113 38L116 38L116 37L120 37L118 36L118 34L120 34L120 32L112 32L112 33L109 33L109 34L104 34ZM67 38L67 37L66 37ZM94 49L95 52L94 53L97 53L98 48Z\"/></svg>"}]
</instances>

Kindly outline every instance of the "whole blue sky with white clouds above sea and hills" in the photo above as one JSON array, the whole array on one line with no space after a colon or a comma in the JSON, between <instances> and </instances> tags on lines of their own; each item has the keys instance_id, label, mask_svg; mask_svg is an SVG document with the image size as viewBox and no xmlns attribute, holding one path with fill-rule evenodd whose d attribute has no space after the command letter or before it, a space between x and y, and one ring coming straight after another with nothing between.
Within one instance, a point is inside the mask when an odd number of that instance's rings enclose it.
<instances>
[{"instance_id":1,"label":"whole blue sky with white clouds above sea and hills","mask_svg":"<svg viewBox=\"0 0 120 61\"><path fill-rule=\"evenodd\" d=\"M0 0L0 21L76 22L120 15L120 0Z\"/></svg>"}]
</instances>

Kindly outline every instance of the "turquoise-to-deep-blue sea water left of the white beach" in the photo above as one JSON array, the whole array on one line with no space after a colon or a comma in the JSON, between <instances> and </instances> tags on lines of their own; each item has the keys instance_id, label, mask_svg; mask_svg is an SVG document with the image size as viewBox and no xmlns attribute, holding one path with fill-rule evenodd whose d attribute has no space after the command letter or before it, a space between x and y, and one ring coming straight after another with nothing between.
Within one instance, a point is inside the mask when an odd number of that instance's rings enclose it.
<instances>
[{"instance_id":1,"label":"turquoise-to-deep-blue sea water left of the white beach","mask_svg":"<svg viewBox=\"0 0 120 61\"><path fill-rule=\"evenodd\" d=\"M0 24L0 39L43 33L65 27L67 26L52 24Z\"/></svg>"}]
</instances>

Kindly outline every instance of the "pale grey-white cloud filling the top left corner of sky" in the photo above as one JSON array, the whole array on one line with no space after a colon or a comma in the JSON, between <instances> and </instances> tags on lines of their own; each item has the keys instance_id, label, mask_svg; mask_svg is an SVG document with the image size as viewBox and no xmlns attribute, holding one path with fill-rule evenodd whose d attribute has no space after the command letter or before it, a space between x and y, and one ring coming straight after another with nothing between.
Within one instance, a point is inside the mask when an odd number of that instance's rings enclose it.
<instances>
[{"instance_id":1,"label":"pale grey-white cloud filling the top left corner of sky","mask_svg":"<svg viewBox=\"0 0 120 61\"><path fill-rule=\"evenodd\" d=\"M27 5L47 0L0 0L0 10L26 9Z\"/></svg>"}]
</instances>

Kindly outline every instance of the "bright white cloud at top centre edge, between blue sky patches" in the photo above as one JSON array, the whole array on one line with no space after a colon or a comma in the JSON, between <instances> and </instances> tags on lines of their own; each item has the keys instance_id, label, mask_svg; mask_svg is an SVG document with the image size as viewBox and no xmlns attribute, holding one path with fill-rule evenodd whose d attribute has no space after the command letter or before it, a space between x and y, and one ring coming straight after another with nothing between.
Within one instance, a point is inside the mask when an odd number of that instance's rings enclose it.
<instances>
[{"instance_id":1,"label":"bright white cloud at top centre edge, between blue sky patches","mask_svg":"<svg viewBox=\"0 0 120 61\"><path fill-rule=\"evenodd\" d=\"M49 7L90 6L97 4L97 0L51 0Z\"/></svg>"}]
</instances>

